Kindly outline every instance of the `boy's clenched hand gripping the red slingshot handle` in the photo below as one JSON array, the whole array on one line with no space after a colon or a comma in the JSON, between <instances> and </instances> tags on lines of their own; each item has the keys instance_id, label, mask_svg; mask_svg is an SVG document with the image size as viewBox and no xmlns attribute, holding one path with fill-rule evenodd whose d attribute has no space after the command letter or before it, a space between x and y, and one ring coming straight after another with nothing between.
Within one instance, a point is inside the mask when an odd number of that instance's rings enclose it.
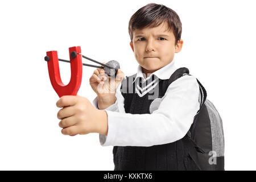
<instances>
[{"instance_id":1,"label":"boy's clenched hand gripping the red slingshot handle","mask_svg":"<svg viewBox=\"0 0 256 182\"><path fill-rule=\"evenodd\" d=\"M63 128L62 134L108 134L106 111L96 109L87 98L63 96L56 102L56 106L63 107L57 113L57 118L61 119L59 126Z\"/></svg>"}]
</instances>

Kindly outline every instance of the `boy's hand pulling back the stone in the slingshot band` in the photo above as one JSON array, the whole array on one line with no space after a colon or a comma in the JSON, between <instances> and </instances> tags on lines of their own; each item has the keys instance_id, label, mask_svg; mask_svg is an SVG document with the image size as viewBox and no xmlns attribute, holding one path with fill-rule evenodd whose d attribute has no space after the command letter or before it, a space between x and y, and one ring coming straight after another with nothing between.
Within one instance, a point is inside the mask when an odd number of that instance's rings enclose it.
<instances>
[{"instance_id":1,"label":"boy's hand pulling back the stone in the slingshot band","mask_svg":"<svg viewBox=\"0 0 256 182\"><path fill-rule=\"evenodd\" d=\"M117 76L115 78L106 75L103 67L102 69L97 68L94 70L89 81L90 86L98 96L99 109L105 109L106 107L114 104L115 92L124 76L125 74L121 69L118 69Z\"/></svg>"}]
</instances>

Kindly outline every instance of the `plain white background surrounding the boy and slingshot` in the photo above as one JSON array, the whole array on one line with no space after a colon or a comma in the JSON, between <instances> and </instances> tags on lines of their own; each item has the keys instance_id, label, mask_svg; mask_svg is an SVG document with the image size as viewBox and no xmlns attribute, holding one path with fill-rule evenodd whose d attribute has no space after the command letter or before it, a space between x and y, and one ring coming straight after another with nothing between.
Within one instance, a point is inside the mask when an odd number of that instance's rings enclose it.
<instances>
[{"instance_id":1,"label":"plain white background surrounding the boy and slingshot","mask_svg":"<svg viewBox=\"0 0 256 182\"><path fill-rule=\"evenodd\" d=\"M128 23L150 2L0 2L0 169L114 169L113 146L102 147L98 134L61 134L55 105L59 97L44 56L55 50L69 59L68 48L81 46L83 55L101 62L118 60L125 75L133 75L138 64ZM176 67L189 68L222 117L225 169L256 169L255 1L154 2L180 16L184 46L175 55ZM68 84L70 64L59 64ZM77 93L90 101L96 97L89 85L93 71L83 68Z\"/></svg>"}]
</instances>

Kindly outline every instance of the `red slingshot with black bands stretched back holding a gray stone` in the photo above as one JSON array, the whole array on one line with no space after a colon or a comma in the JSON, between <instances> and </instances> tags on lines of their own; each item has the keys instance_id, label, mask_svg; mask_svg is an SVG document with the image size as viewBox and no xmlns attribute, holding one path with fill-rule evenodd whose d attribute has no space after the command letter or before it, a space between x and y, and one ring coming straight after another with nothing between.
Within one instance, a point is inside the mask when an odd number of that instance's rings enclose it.
<instances>
[{"instance_id":1,"label":"red slingshot with black bands stretched back holding a gray stone","mask_svg":"<svg viewBox=\"0 0 256 182\"><path fill-rule=\"evenodd\" d=\"M44 60L47 61L48 65L48 72L49 78L51 80L51 84L55 92L58 94L59 97L72 95L76 96L82 81L82 65L94 68L103 68L105 73L108 76L115 77L117 75L118 68L120 65L117 61L112 60L106 64L100 63L96 60L90 59L84 55L81 55L81 47L69 47L69 59L58 59L57 51L48 51L46 52L47 56L44 57ZM92 64L85 64L82 63L82 57L93 61L94 63L102 65L92 65ZM71 79L68 85L64 85L60 78L60 69L59 69L59 61L64 61L70 63L71 65Z\"/></svg>"}]
</instances>

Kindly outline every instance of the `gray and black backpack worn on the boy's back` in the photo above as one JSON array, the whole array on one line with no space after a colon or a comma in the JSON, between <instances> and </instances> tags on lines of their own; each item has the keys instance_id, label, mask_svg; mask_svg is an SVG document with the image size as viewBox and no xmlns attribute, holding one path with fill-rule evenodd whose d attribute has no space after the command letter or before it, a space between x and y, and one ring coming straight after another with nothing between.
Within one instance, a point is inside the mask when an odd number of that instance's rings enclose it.
<instances>
[{"instance_id":1,"label":"gray and black backpack worn on the boy's back","mask_svg":"<svg viewBox=\"0 0 256 182\"><path fill-rule=\"evenodd\" d=\"M189 75L187 68L177 69L170 77L168 85L184 75ZM197 111L187 135L182 140L187 147L189 157L201 170L224 171L222 119L212 102L207 100L204 86L199 80L197 82L200 88L200 109Z\"/></svg>"}]
</instances>

